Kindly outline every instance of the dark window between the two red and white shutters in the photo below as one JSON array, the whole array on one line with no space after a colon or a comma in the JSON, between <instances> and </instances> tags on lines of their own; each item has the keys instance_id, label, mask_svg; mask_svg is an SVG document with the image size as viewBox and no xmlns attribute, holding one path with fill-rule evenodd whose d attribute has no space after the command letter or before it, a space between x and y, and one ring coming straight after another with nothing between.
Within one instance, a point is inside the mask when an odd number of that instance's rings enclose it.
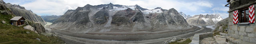
<instances>
[{"instance_id":1,"label":"dark window between the two red and white shutters","mask_svg":"<svg viewBox=\"0 0 256 44\"><path fill-rule=\"evenodd\" d=\"M239 23L245 23L249 22L249 10L248 8L245 8L243 10L238 11L238 22Z\"/></svg>"}]
</instances>

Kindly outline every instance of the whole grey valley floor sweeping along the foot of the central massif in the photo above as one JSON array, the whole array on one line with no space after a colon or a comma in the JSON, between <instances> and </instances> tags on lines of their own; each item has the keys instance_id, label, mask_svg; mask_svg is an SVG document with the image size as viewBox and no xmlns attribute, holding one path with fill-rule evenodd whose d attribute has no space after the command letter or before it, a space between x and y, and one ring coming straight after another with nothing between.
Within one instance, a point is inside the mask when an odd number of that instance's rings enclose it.
<instances>
[{"instance_id":1,"label":"whole grey valley floor sweeping along the foot of the central massif","mask_svg":"<svg viewBox=\"0 0 256 44\"><path fill-rule=\"evenodd\" d=\"M49 29L49 28L46 28ZM53 29L57 36L68 44L159 44L167 42L171 38L189 38L194 36L196 33L206 33L212 31L206 26L196 27L193 26L191 29L181 29L179 31L163 31L156 33L138 34L138 32L130 32L130 34L122 34L125 32L117 32L118 34L108 33L95 33L94 34L75 34L67 33ZM127 33L127 32L126 32ZM140 32L141 33L141 32ZM142 32L143 33L143 32ZM136 35L135 35L136 34Z\"/></svg>"}]
</instances>

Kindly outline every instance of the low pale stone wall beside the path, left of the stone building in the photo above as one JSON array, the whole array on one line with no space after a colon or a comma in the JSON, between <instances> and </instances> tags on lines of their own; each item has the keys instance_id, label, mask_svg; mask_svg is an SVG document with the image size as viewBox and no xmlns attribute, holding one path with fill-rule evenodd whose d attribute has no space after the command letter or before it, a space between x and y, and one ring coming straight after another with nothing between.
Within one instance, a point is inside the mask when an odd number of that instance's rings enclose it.
<instances>
[{"instance_id":1,"label":"low pale stone wall beside the path, left of the stone building","mask_svg":"<svg viewBox=\"0 0 256 44\"><path fill-rule=\"evenodd\" d=\"M189 44L199 44L200 39L207 38L207 37L212 37L213 36L212 34L213 34L212 32L195 34L193 36L192 41Z\"/></svg>"}]
</instances>

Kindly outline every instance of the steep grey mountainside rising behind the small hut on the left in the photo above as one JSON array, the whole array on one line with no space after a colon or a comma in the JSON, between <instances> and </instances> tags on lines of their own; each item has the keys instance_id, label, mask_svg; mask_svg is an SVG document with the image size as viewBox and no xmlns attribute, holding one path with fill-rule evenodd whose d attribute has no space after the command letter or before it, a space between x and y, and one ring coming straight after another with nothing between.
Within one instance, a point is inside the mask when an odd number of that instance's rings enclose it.
<instances>
[{"instance_id":1,"label":"steep grey mountainside rising behind the small hut on the left","mask_svg":"<svg viewBox=\"0 0 256 44\"><path fill-rule=\"evenodd\" d=\"M42 25L46 24L46 22L40 16L36 15L31 10L26 10L24 7L22 7L20 5L16 5L16 4L14 4L14 5L12 5L10 3L6 4L2 0L0 1L0 3L6 5L6 7L9 8L10 10L12 10L14 15L16 15L16 16L22 16L26 20L35 21L35 22L41 23Z\"/></svg>"}]
</instances>

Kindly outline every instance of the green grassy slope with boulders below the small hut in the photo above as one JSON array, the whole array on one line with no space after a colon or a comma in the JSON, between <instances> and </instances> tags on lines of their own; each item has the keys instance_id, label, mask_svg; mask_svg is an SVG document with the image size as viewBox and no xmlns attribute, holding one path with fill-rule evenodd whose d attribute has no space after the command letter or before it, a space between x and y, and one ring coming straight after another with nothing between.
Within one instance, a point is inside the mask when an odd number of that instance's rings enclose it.
<instances>
[{"instance_id":1,"label":"green grassy slope with boulders below the small hut","mask_svg":"<svg viewBox=\"0 0 256 44\"><path fill-rule=\"evenodd\" d=\"M13 26L10 25L11 15L3 15L0 13L0 44L1 42L24 42L32 44L61 44L63 43L58 37L48 37L42 34L34 33L30 30L26 30L24 26ZM2 20L6 21L7 24L3 24ZM26 32L30 32L27 34ZM39 38L41 41L36 40ZM2 43L4 44L4 43Z\"/></svg>"}]
</instances>

